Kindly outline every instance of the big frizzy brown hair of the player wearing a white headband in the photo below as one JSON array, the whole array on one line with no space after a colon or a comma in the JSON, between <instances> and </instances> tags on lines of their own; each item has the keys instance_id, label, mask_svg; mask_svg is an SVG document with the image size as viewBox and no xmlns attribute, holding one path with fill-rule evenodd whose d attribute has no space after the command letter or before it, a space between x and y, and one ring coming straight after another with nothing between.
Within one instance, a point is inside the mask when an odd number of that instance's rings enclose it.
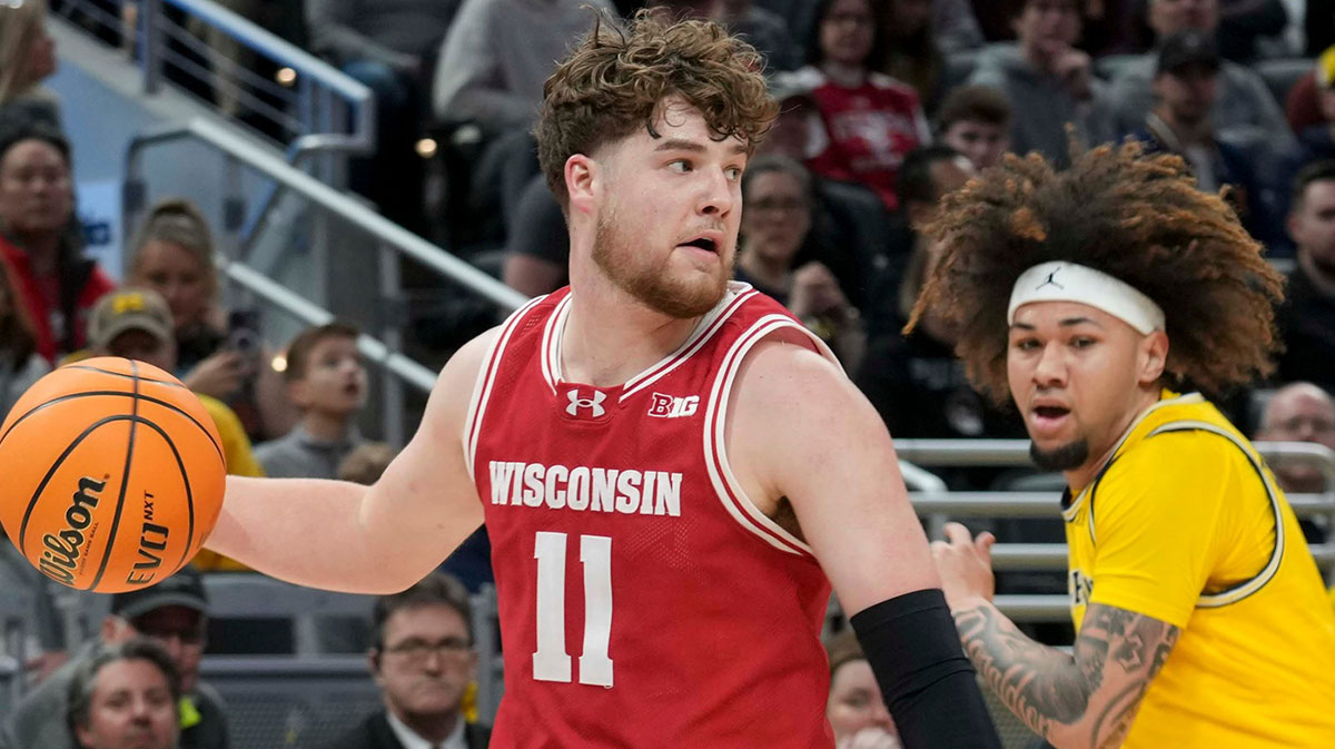
<instances>
[{"instance_id":1,"label":"big frizzy brown hair of the player wearing a white headband","mask_svg":"<svg viewBox=\"0 0 1335 749\"><path fill-rule=\"evenodd\" d=\"M969 379L1007 403L1007 306L1021 272L1069 260L1119 278L1167 318L1165 379L1220 394L1272 371L1282 276L1185 163L1139 144L1101 146L1063 172L1009 155L943 202L925 230L941 260L905 331L924 312L956 331Z\"/></svg>"}]
</instances>

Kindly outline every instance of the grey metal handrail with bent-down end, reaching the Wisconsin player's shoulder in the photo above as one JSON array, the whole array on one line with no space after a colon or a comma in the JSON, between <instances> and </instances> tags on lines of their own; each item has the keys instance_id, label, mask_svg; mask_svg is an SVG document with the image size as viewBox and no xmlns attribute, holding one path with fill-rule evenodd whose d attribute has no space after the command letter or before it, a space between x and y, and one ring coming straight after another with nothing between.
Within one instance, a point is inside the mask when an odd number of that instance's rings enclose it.
<instances>
[{"instance_id":1,"label":"grey metal handrail with bent-down end, reaching the Wisconsin player's shoulder","mask_svg":"<svg viewBox=\"0 0 1335 749\"><path fill-rule=\"evenodd\" d=\"M139 184L140 159L144 147L186 138L195 138L218 148L236 162L298 192L320 208L338 215L340 220L360 228L379 243L413 258L446 279L463 286L506 311L517 310L529 302L529 298L523 294L479 271L466 260L455 258L439 246L422 239L362 203L294 168L267 150L202 117L191 119L184 124L146 131L132 138L125 156L127 183L132 186ZM132 214L140 207L136 198L142 196L136 196L135 192L135 190L127 190L127 199L124 202L125 226L131 224Z\"/></svg>"}]
</instances>

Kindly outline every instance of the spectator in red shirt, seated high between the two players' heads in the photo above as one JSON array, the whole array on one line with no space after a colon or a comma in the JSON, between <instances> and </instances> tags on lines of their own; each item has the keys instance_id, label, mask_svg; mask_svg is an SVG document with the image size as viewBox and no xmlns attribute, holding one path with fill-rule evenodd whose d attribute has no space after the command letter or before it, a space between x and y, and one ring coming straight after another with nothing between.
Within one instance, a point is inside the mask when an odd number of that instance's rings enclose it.
<instances>
[{"instance_id":1,"label":"spectator in red shirt, seated high between the two players' heads","mask_svg":"<svg viewBox=\"0 0 1335 749\"><path fill-rule=\"evenodd\" d=\"M930 132L917 93L870 68L884 44L876 13L870 0L821 0L808 65L777 75L774 85L816 103L824 128L810 134L806 166L818 176L869 187L894 210L904 155Z\"/></svg>"}]
</instances>

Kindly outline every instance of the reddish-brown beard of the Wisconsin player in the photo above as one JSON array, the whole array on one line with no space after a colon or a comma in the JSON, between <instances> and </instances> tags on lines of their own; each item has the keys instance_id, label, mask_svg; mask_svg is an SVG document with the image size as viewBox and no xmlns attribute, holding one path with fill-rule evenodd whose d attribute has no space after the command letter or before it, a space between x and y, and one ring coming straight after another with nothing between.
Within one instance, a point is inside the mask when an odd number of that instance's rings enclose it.
<instances>
[{"instance_id":1,"label":"reddish-brown beard of the Wisconsin player","mask_svg":"<svg viewBox=\"0 0 1335 749\"><path fill-rule=\"evenodd\" d=\"M593 262L618 288L650 310L677 319L690 319L713 310L728 291L730 268L720 263L713 278L674 278L670 271L672 251L657 255L637 251L635 239L627 236L617 219L615 207L598 220L593 238ZM718 248L722 254L724 248ZM726 258L720 256L720 260Z\"/></svg>"}]
</instances>

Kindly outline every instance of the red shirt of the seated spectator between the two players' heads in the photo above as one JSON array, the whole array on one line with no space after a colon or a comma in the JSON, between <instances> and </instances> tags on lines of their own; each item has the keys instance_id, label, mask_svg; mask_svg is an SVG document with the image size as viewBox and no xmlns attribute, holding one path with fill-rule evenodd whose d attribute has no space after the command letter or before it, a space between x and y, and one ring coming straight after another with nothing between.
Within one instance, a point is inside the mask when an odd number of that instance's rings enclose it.
<instances>
[{"instance_id":1,"label":"red shirt of the seated spectator between the two players' heads","mask_svg":"<svg viewBox=\"0 0 1335 749\"><path fill-rule=\"evenodd\" d=\"M881 73L869 73L857 88L838 85L817 68L796 77L809 87L825 126L808 147L806 166L826 179L864 184L888 208L898 208L900 166L932 138L913 88Z\"/></svg>"}]
</instances>

